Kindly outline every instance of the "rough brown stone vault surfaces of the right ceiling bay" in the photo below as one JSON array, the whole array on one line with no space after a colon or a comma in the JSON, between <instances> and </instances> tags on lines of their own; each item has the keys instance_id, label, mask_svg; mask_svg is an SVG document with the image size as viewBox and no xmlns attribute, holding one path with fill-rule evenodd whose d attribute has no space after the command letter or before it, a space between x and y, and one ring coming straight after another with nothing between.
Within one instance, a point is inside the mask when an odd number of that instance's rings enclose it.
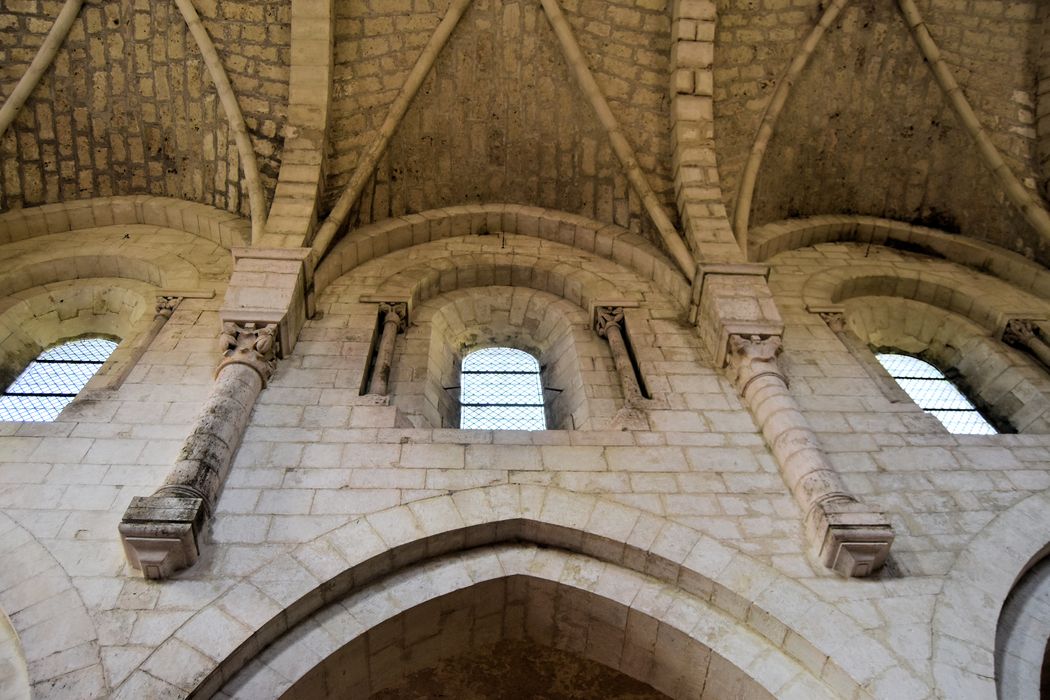
<instances>
[{"instance_id":1,"label":"rough brown stone vault surfaces of the right ceiling bay","mask_svg":"<svg viewBox=\"0 0 1050 700\"><path fill-rule=\"evenodd\" d=\"M720 3L715 131L731 211L773 89L826 4L794 3L770 17L758 3ZM918 4L1009 168L1032 192L1041 182L1045 190L1034 128L1044 45L1037 3ZM793 86L762 162L752 226L828 213L923 224L1048 257L962 128L894 3L846 5Z\"/></svg>"}]
</instances>

